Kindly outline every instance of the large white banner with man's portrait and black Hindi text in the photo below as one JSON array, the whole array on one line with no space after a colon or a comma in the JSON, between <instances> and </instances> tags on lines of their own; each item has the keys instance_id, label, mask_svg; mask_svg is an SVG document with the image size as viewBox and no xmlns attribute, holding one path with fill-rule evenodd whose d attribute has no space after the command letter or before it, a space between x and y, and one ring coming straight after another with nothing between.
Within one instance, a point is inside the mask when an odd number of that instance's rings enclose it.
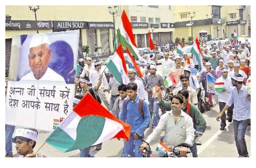
<instances>
[{"instance_id":1,"label":"large white banner with man's portrait and black Hindi text","mask_svg":"<svg viewBox=\"0 0 256 168\"><path fill-rule=\"evenodd\" d=\"M5 123L53 131L73 109L79 30L13 36Z\"/></svg>"}]
</instances>

